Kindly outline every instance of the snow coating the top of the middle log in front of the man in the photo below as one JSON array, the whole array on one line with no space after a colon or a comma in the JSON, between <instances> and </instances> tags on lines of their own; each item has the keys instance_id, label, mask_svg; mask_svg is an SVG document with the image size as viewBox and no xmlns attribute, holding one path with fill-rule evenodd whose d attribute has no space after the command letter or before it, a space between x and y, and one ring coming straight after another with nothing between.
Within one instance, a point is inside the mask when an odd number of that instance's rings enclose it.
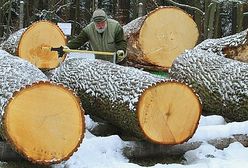
<instances>
[{"instance_id":1,"label":"snow coating the top of the middle log in front of the man","mask_svg":"<svg viewBox=\"0 0 248 168\"><path fill-rule=\"evenodd\" d=\"M111 103L126 103L131 111L136 110L138 99L145 89L164 81L163 78L132 67L97 59L70 57L55 70L52 81L62 83L76 93L84 90L101 99L108 97Z\"/></svg>"}]
</instances>

